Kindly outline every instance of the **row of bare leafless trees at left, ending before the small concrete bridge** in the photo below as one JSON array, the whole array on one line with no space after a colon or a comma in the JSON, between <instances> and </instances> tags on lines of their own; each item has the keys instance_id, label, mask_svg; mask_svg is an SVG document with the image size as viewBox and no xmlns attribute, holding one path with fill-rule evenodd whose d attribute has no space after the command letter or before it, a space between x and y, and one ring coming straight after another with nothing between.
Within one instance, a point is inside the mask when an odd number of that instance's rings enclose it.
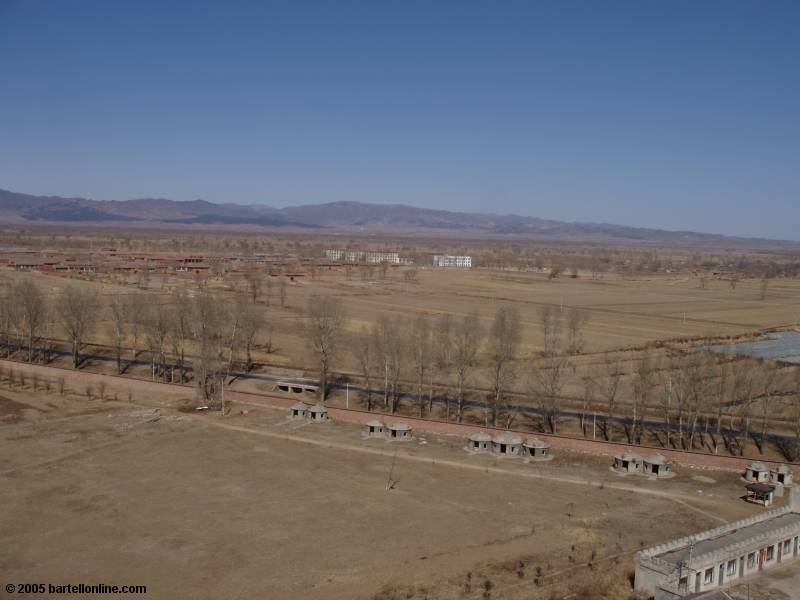
<instances>
[{"instance_id":1,"label":"row of bare leafless trees at left, ending before the small concrete bridge","mask_svg":"<svg viewBox=\"0 0 800 600\"><path fill-rule=\"evenodd\" d=\"M149 355L152 378L188 381L189 364L205 400L218 398L232 371L253 367L260 337L271 351L271 326L265 312L238 296L229 302L210 291L170 296L113 292L99 297L89 286L70 284L53 297L33 280L20 280L0 294L0 346L6 356L21 353L28 362L50 362L56 337L66 337L73 368L84 358L89 335L99 323L122 374ZM104 340L105 341L105 340ZM191 357L191 360L189 360Z\"/></svg>"}]
</instances>

